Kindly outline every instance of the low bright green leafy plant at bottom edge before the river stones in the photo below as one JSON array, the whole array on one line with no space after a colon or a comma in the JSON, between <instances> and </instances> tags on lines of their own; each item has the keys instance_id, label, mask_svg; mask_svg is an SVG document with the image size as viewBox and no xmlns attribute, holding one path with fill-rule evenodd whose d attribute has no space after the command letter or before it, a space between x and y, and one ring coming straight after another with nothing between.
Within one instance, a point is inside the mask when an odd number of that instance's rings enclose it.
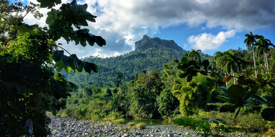
<instances>
[{"instance_id":1,"label":"low bright green leafy plant at bottom edge before the river stones","mask_svg":"<svg viewBox=\"0 0 275 137\"><path fill-rule=\"evenodd\" d=\"M200 137L223 137L221 135L218 135L220 132L229 132L229 131L240 131L240 128L236 127L225 127L224 125L227 125L227 122L222 119L208 119L204 118L201 120L194 120L194 118L180 118L173 120L175 124L183 127L191 127L193 131L196 132L196 134ZM216 126L212 127L211 123L215 123ZM222 124L219 124L221 122ZM216 130L216 133L214 133L213 129ZM189 137L189 136L188 136Z\"/></svg>"}]
</instances>

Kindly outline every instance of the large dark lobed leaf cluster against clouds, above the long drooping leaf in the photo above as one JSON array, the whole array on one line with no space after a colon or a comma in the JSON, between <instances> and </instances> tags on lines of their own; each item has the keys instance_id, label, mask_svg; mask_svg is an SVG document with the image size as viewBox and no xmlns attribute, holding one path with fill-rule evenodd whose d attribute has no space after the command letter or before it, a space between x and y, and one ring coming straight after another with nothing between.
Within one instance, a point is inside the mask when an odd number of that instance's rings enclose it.
<instances>
[{"instance_id":1,"label":"large dark lobed leaf cluster against clouds, above the long drooping leaf","mask_svg":"<svg viewBox=\"0 0 275 137\"><path fill-rule=\"evenodd\" d=\"M96 22L96 17L91 13L87 12L88 5L78 5L76 0L73 0L71 3L62 4L59 8L61 10L61 14L65 16L66 21L68 21L69 25L74 24L74 26L80 29L80 26L88 26L86 20Z\"/></svg>"}]
</instances>

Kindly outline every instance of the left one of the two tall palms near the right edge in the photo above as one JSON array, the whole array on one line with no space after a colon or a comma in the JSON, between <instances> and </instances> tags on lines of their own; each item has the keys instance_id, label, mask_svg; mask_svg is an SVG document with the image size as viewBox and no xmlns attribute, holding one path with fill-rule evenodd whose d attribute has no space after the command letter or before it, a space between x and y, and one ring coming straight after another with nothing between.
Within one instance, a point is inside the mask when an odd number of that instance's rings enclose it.
<instances>
[{"instance_id":1,"label":"left one of the two tall palms near the right edge","mask_svg":"<svg viewBox=\"0 0 275 137\"><path fill-rule=\"evenodd\" d=\"M250 34L245 34L246 36L244 43L246 43L247 49L252 48L253 50L253 59L254 59L254 68L255 68L255 76L257 78L257 70L256 70L256 62L255 62L255 54L254 54L254 47L255 43L257 42L255 39L258 37L258 35L253 35L252 32Z\"/></svg>"}]
</instances>

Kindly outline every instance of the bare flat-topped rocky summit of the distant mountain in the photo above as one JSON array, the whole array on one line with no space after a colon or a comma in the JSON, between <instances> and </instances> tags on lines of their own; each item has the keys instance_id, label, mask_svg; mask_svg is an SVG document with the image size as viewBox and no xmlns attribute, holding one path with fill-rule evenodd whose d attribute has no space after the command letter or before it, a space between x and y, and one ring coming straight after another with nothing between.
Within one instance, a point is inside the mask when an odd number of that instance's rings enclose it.
<instances>
[{"instance_id":1,"label":"bare flat-topped rocky summit of the distant mountain","mask_svg":"<svg viewBox=\"0 0 275 137\"><path fill-rule=\"evenodd\" d=\"M135 43L136 50L149 48L149 47L156 47L156 46L166 47L166 48L175 49L177 51L186 52L181 47L179 47L174 40L165 40L165 39L160 39L158 37L150 38L147 35L144 35L142 39L138 40Z\"/></svg>"}]
</instances>

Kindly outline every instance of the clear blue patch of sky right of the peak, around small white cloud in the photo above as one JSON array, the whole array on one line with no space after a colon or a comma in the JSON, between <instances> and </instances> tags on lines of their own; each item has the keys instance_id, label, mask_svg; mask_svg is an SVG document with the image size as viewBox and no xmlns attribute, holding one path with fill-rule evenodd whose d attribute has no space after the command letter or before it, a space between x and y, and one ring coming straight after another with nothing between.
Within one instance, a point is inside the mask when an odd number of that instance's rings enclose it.
<instances>
[{"instance_id":1,"label":"clear blue patch of sky right of the peak, around small white cloud","mask_svg":"<svg viewBox=\"0 0 275 137\"><path fill-rule=\"evenodd\" d=\"M157 34L154 34L153 37L159 37L161 39L174 40L178 46L183 48L184 50L191 50L192 45L188 43L188 37L191 35L199 35L203 33L217 35L221 31L227 31L226 29L222 29L221 26L215 28L202 29L203 24L199 27L188 27L186 24L180 24L177 26L171 26L168 28L159 28ZM256 29L251 31L253 34L263 35L265 38L271 40L272 43L275 44L275 30L268 29ZM242 31L237 32L235 36L231 38L227 38L225 42L223 42L218 48L213 50L204 50L203 53L207 53L209 55L213 55L216 51L226 51L229 49L238 49L238 47L242 49L247 49L246 44L244 43L244 39L246 38L244 35L250 34L250 31ZM198 49L196 49L198 50Z\"/></svg>"}]
</instances>

